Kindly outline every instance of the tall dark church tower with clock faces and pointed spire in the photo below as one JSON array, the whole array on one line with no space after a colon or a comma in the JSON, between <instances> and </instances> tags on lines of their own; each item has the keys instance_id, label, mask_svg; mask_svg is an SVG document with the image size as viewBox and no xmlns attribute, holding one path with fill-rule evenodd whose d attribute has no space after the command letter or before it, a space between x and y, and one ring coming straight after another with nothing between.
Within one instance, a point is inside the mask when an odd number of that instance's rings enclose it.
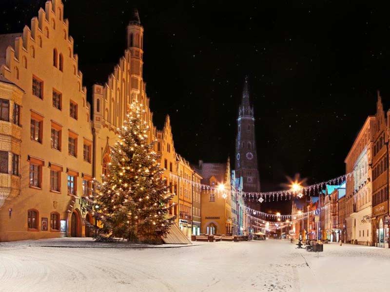
<instances>
[{"instance_id":1,"label":"tall dark church tower with clock faces and pointed spire","mask_svg":"<svg viewBox=\"0 0 390 292\"><path fill-rule=\"evenodd\" d=\"M235 172L243 177L244 192L259 192L254 110L249 100L248 76L245 77L242 100L238 109L237 138L235 139Z\"/></svg>"}]
</instances>

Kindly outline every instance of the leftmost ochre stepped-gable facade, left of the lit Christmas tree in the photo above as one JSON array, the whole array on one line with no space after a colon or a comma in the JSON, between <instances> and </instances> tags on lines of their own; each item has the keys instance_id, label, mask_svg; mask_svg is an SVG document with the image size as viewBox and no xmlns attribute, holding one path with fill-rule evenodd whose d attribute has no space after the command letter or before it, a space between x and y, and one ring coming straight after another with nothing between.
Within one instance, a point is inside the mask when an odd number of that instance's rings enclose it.
<instances>
[{"instance_id":1,"label":"leftmost ochre stepped-gable facade, left of the lit Christmas tree","mask_svg":"<svg viewBox=\"0 0 390 292\"><path fill-rule=\"evenodd\" d=\"M10 113L18 106L19 117L2 121L13 170L1 180L9 195L2 195L0 241L88 234L82 198L93 178L92 124L68 30L62 2L52 0L23 33L0 36L0 75L24 91L10 94L2 82L2 106Z\"/></svg>"}]
</instances>

